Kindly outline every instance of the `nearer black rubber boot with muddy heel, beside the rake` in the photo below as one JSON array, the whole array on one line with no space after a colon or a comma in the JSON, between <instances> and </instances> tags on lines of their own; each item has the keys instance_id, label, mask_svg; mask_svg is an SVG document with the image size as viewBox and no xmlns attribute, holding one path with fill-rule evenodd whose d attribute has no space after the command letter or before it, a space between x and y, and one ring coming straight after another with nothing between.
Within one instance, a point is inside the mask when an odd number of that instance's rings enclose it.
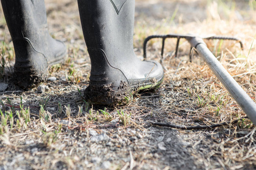
<instances>
[{"instance_id":1,"label":"nearer black rubber boot with muddy heel, beside the rake","mask_svg":"<svg viewBox=\"0 0 256 170\"><path fill-rule=\"evenodd\" d=\"M163 68L133 49L134 0L78 0L91 71L85 99L113 105L138 90L159 86Z\"/></svg>"}]
</instances>

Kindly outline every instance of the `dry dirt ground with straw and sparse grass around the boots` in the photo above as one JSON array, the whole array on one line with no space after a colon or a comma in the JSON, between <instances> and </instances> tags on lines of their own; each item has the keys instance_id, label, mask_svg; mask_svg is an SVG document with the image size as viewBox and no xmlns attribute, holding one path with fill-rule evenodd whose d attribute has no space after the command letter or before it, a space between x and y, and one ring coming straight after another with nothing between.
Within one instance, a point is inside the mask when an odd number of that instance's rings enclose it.
<instances>
[{"instance_id":1,"label":"dry dirt ground with straw and sparse grass around the boots","mask_svg":"<svg viewBox=\"0 0 256 170\"><path fill-rule=\"evenodd\" d=\"M134 50L150 35L229 35L237 42L207 41L209 49L255 101L255 1L136 0ZM64 41L68 59L49 69L49 79L23 91L10 82L14 49L0 12L1 57L6 60L0 91L0 169L256 169L255 126L189 45L168 40L165 78L115 108L88 105L90 60L77 2L46 0L51 35ZM160 40L147 46L147 59L160 62ZM55 79L56 78L56 79ZM13 114L10 114L10 113ZM13 119L11 118L13 115ZM6 120L6 122L5 122ZM236 121L236 122L234 122ZM153 125L219 128L180 130Z\"/></svg>"}]
</instances>

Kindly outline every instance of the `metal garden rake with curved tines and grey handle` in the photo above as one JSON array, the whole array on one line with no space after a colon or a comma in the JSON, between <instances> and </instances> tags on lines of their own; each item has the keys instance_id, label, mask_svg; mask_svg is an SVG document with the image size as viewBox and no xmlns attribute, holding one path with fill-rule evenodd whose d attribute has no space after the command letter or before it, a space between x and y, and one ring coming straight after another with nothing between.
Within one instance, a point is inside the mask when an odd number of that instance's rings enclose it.
<instances>
[{"instance_id":1,"label":"metal garden rake with curved tines and grey handle","mask_svg":"<svg viewBox=\"0 0 256 170\"><path fill-rule=\"evenodd\" d=\"M207 63L207 65L210 67L213 73L217 76L218 80L220 80L220 82L224 85L226 90L228 90L229 94L233 97L233 99L237 101L238 105L240 105L243 112L245 112L246 115L250 118L251 122L253 122L253 124L256 125L256 103L254 103L253 99L251 99L251 97L246 94L246 92L242 89L242 87L228 73L228 71L224 69L224 67L221 65L218 59L212 54L212 52L210 52L210 50L207 48L207 45L204 42L204 39L205 40L212 40L212 39L234 40L234 41L238 41L240 43L241 49L243 49L243 44L240 39L236 39L235 37L226 37L226 36L209 36L209 37L202 38L200 36L195 36L195 35L180 35L180 34L152 35L147 37L144 40L144 44L143 44L144 59L146 59L147 57L147 53L146 53L147 42L151 39L156 39L156 38L162 39L162 50L161 50L162 58L164 53L164 43L166 39L170 39L170 38L177 39L175 57L178 56L180 39L186 39L191 45L191 53L189 54L190 61L192 61L193 50L195 50L195 52L199 54L201 58L204 59L204 61Z\"/></svg>"}]
</instances>

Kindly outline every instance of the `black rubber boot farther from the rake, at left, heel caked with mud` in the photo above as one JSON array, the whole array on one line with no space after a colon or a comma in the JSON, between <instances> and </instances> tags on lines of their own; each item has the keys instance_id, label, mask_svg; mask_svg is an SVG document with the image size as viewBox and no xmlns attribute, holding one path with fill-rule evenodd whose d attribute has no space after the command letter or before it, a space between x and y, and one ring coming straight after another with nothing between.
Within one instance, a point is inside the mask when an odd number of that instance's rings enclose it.
<instances>
[{"instance_id":1,"label":"black rubber boot farther from the rake, at left, heel caked with mud","mask_svg":"<svg viewBox=\"0 0 256 170\"><path fill-rule=\"evenodd\" d=\"M14 83L22 88L47 78L48 67L64 61L63 42L48 33L44 0L1 0L15 50Z\"/></svg>"}]
</instances>

